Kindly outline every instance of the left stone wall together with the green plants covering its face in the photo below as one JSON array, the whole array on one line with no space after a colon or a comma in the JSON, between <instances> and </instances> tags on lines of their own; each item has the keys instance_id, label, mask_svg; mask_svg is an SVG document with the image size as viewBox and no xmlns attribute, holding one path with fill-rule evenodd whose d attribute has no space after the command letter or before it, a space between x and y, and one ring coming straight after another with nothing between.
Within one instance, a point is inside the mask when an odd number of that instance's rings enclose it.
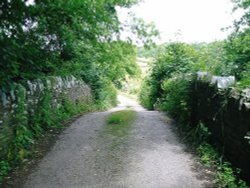
<instances>
[{"instance_id":1,"label":"left stone wall together with the green plants covering its face","mask_svg":"<svg viewBox=\"0 0 250 188\"><path fill-rule=\"evenodd\" d=\"M0 182L37 139L92 104L90 88L72 76L16 84L0 96Z\"/></svg>"}]
</instances>

